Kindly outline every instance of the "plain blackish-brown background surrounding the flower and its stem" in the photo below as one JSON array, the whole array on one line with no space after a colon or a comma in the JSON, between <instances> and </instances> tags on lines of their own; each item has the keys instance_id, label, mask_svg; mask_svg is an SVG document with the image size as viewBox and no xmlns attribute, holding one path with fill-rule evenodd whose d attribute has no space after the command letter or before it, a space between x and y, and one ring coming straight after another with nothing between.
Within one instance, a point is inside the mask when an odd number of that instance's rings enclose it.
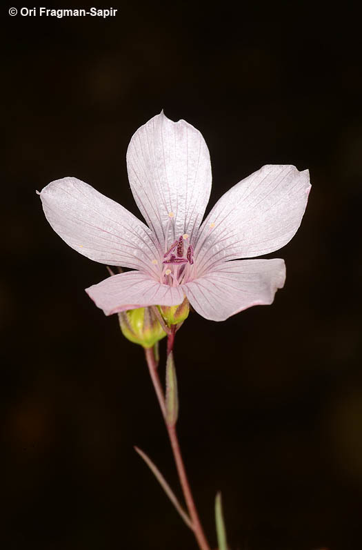
<instances>
[{"instance_id":1,"label":"plain blackish-brown background surrounding the flower and its stem","mask_svg":"<svg viewBox=\"0 0 362 550\"><path fill-rule=\"evenodd\" d=\"M274 304L193 314L178 333L179 435L212 547L219 489L232 549L362 545L359 19L348 3L236 6L2 8L3 548L196 549L132 448L180 493L142 350L83 291L105 266L61 241L35 194L72 175L138 215L125 152L161 108L203 133L210 205L263 164L312 180L301 228L271 255L287 265Z\"/></svg>"}]
</instances>

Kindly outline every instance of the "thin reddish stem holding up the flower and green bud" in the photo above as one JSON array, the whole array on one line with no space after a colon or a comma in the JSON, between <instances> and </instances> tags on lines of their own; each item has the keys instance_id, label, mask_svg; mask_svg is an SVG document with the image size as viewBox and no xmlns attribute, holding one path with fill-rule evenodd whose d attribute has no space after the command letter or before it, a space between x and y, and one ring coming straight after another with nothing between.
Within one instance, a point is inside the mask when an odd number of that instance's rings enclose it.
<instances>
[{"instance_id":1,"label":"thin reddish stem holding up the flower and green bud","mask_svg":"<svg viewBox=\"0 0 362 550\"><path fill-rule=\"evenodd\" d=\"M176 332L175 328L175 326L172 326L172 332L168 335L168 353L172 351L172 348L174 346L174 335ZM154 391L156 392L162 415L165 420L165 397L161 381L159 379L159 373L157 372L156 362L154 361L154 353L152 349L145 349L145 357L154 386ZM168 431L168 437L170 438L172 453L174 455L174 462L176 463L177 473L179 475L179 481L183 491L183 496L185 497L188 512L192 520L192 530L194 531L194 536L199 544L200 550L210 550L210 546L205 538L205 534L203 533L203 528L199 520L199 514L197 513L197 508L194 503L194 498L192 496L190 484L188 482L188 476L186 475L185 465L183 464L181 449L179 446L179 440L177 438L176 426L169 426L167 422L165 422L165 424Z\"/></svg>"}]
</instances>

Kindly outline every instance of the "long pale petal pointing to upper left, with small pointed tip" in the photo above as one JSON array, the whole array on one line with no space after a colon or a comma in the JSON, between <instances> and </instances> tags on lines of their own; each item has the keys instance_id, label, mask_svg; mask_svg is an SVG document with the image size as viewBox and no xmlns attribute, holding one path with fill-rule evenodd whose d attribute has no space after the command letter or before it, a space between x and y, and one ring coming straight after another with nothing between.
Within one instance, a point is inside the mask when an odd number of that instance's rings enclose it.
<instances>
[{"instance_id":1,"label":"long pale petal pointing to upper left, with small pointed tip","mask_svg":"<svg viewBox=\"0 0 362 550\"><path fill-rule=\"evenodd\" d=\"M40 198L46 219L74 250L101 264L156 275L152 259L159 253L150 230L117 202L75 177L52 181Z\"/></svg>"}]
</instances>

